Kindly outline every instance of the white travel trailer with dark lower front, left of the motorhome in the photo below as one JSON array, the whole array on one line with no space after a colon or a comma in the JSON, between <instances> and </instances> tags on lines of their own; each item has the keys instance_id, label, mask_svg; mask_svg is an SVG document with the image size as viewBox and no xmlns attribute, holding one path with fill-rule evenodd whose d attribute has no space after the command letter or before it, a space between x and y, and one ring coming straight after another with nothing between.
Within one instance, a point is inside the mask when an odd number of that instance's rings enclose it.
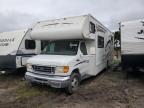
<instances>
[{"instance_id":1,"label":"white travel trailer with dark lower front, left of the motorhome","mask_svg":"<svg viewBox=\"0 0 144 108\"><path fill-rule=\"evenodd\" d=\"M0 33L0 71L25 67L26 60L41 53L40 41L30 38L31 29Z\"/></svg>"}]
</instances>

